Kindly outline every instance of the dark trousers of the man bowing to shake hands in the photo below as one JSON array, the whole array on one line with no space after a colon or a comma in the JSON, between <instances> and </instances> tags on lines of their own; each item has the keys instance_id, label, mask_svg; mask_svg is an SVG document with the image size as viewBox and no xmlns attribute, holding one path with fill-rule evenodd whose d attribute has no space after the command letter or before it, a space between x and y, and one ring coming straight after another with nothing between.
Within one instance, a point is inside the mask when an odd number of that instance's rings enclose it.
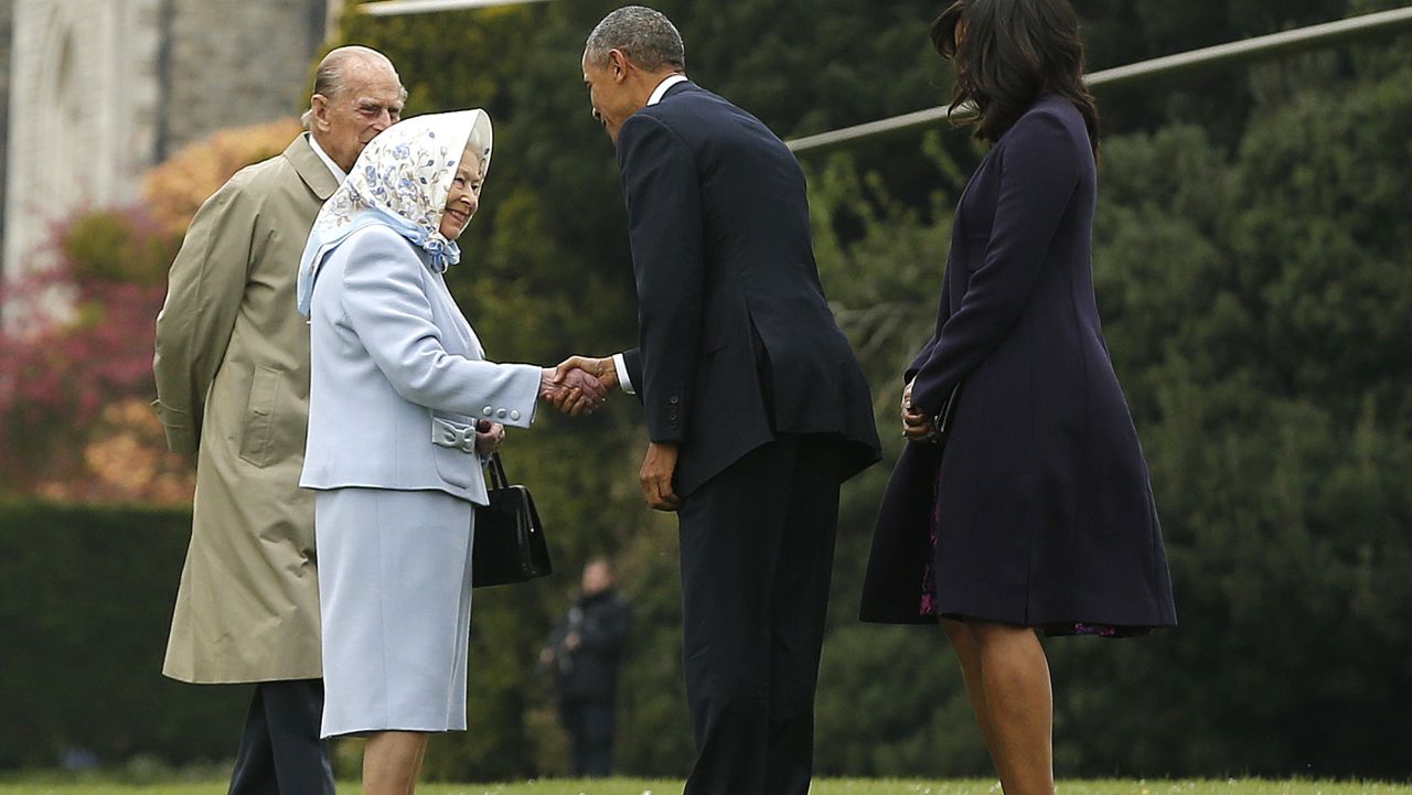
<instances>
[{"instance_id":1,"label":"dark trousers of the man bowing to shake hands","mask_svg":"<svg viewBox=\"0 0 1412 795\"><path fill-rule=\"evenodd\" d=\"M781 436L681 511L685 795L805 795L839 524L836 442Z\"/></svg>"}]
</instances>

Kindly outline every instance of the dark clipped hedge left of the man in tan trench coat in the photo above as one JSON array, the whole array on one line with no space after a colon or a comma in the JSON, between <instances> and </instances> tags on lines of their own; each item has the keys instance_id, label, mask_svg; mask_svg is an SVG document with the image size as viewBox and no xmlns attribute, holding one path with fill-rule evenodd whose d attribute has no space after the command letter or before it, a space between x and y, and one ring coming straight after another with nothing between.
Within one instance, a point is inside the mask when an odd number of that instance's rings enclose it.
<instances>
[{"instance_id":1,"label":"dark clipped hedge left of the man in tan trench coat","mask_svg":"<svg viewBox=\"0 0 1412 795\"><path fill-rule=\"evenodd\" d=\"M0 768L234 755L249 689L161 675L191 513L0 501Z\"/></svg>"}]
</instances>

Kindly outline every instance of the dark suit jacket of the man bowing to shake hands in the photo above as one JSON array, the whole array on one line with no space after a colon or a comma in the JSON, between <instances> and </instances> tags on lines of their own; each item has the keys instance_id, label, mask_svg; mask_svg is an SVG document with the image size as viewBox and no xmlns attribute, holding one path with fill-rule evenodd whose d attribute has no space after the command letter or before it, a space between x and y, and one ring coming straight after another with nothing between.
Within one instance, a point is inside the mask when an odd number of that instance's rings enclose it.
<instances>
[{"instance_id":1,"label":"dark suit jacket of the man bowing to shake hands","mask_svg":"<svg viewBox=\"0 0 1412 795\"><path fill-rule=\"evenodd\" d=\"M777 434L827 434L846 479L880 458L873 400L823 297L803 172L758 119L690 83L618 136L640 347L624 354L689 494Z\"/></svg>"}]
</instances>

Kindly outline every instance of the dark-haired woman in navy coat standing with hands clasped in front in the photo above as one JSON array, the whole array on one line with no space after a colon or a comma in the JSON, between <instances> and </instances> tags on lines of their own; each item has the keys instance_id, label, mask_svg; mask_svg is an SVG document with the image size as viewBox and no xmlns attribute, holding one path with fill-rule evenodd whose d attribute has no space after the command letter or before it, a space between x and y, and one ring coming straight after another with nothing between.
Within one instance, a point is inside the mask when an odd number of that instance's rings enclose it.
<instances>
[{"instance_id":1,"label":"dark-haired woman in navy coat standing with hands clasped in front","mask_svg":"<svg viewBox=\"0 0 1412 795\"><path fill-rule=\"evenodd\" d=\"M974 102L993 147L956 210L936 333L904 376L909 443L861 617L939 620L1005 794L1052 794L1039 633L1176 623L1093 294L1097 112L1067 0L959 0L932 40L953 107Z\"/></svg>"}]
</instances>

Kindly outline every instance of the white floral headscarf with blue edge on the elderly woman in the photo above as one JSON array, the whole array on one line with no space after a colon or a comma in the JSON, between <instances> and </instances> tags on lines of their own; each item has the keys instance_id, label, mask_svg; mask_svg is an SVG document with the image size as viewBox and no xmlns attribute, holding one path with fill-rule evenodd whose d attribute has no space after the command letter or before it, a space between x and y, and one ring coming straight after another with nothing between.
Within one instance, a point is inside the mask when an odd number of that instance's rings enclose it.
<instances>
[{"instance_id":1,"label":"white floral headscarf with blue edge on the elderly woman","mask_svg":"<svg viewBox=\"0 0 1412 795\"><path fill-rule=\"evenodd\" d=\"M405 119L373 138L343 185L313 222L299 257L297 302L309 316L313 280L329 254L350 234L374 223L388 226L431 254L443 273L460 261L460 249L441 233L446 196L466 144L480 154L480 175L490 169L490 116L457 110Z\"/></svg>"}]
</instances>

